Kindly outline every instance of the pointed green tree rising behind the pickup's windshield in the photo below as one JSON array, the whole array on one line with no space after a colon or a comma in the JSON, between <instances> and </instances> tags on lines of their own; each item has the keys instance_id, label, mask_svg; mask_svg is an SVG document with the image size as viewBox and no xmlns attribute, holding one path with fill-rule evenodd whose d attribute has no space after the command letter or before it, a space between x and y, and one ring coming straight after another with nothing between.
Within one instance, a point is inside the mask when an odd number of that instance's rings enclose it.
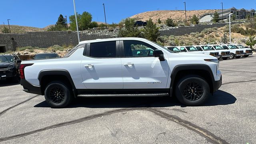
<instances>
[{"instance_id":1,"label":"pointed green tree rising behind the pickup's windshield","mask_svg":"<svg viewBox=\"0 0 256 144\"><path fill-rule=\"evenodd\" d=\"M153 23L151 18L147 20L147 25L144 27L144 30L142 30L142 32L143 38L146 38L153 42L156 42L158 36L160 35L159 28L156 26L156 24Z\"/></svg>"}]
</instances>

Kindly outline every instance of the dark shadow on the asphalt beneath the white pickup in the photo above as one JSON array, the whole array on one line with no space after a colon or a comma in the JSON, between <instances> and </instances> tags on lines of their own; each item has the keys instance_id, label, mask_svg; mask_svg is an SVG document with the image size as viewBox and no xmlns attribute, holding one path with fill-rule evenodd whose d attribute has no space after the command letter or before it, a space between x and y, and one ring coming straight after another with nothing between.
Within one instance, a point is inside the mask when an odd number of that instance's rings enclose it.
<instances>
[{"instance_id":1,"label":"dark shadow on the asphalt beneath the white pickup","mask_svg":"<svg viewBox=\"0 0 256 144\"><path fill-rule=\"evenodd\" d=\"M208 101L202 106L217 106L234 104L236 98L227 92L218 90L213 96L210 96ZM159 108L185 105L178 102L176 98L170 97L104 97L104 98L77 98L72 104L66 108ZM49 108L46 101L36 104L34 107Z\"/></svg>"}]
</instances>

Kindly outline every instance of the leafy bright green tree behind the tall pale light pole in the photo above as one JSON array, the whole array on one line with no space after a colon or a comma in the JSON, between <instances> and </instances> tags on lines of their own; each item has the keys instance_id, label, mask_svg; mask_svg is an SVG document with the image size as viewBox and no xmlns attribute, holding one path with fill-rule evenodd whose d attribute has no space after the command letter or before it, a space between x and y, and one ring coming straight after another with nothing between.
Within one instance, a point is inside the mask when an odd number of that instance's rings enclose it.
<instances>
[{"instance_id":1,"label":"leafy bright green tree behind the tall pale light pole","mask_svg":"<svg viewBox=\"0 0 256 144\"><path fill-rule=\"evenodd\" d=\"M78 30L87 30L92 22L92 14L89 12L83 12L82 14L76 14L78 21ZM70 29L76 30L76 17L75 15L70 16Z\"/></svg>"}]
</instances>

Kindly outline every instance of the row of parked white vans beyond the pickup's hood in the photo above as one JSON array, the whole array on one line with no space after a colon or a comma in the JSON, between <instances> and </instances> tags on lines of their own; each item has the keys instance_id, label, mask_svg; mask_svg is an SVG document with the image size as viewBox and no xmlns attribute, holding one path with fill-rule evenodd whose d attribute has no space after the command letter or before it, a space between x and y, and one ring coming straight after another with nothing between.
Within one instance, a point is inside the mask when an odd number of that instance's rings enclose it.
<instances>
[{"instance_id":1,"label":"row of parked white vans beyond the pickup's hood","mask_svg":"<svg viewBox=\"0 0 256 144\"><path fill-rule=\"evenodd\" d=\"M252 49L246 48L241 44L224 45L198 45L198 46L165 46L173 52L200 53L215 56L216 58L226 60L228 58L241 58L252 55Z\"/></svg>"}]
</instances>

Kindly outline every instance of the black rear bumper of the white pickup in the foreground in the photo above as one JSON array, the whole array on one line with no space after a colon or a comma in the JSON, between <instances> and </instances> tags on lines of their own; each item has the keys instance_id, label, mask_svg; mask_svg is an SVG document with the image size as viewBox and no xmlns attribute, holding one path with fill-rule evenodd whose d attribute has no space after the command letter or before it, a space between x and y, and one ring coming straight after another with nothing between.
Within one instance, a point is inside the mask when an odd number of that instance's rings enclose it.
<instances>
[{"instance_id":1,"label":"black rear bumper of the white pickup in the foreground","mask_svg":"<svg viewBox=\"0 0 256 144\"><path fill-rule=\"evenodd\" d=\"M23 91L32 93L32 94L39 94L43 95L40 86L35 86L33 84L30 84L27 80L21 79L20 80L20 85L23 86Z\"/></svg>"}]
</instances>

